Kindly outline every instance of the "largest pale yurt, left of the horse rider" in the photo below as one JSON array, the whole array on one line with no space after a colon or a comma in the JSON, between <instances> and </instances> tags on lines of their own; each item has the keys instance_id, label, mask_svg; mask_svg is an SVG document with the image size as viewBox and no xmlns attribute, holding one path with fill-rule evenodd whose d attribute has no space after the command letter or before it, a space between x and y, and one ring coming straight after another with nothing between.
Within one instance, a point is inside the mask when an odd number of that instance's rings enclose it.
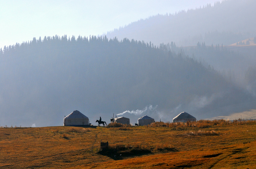
<instances>
[{"instance_id":1,"label":"largest pale yurt, left of the horse rider","mask_svg":"<svg viewBox=\"0 0 256 169\"><path fill-rule=\"evenodd\" d=\"M64 118L64 126L84 126L89 125L89 118L78 110L73 111Z\"/></svg>"}]
</instances>

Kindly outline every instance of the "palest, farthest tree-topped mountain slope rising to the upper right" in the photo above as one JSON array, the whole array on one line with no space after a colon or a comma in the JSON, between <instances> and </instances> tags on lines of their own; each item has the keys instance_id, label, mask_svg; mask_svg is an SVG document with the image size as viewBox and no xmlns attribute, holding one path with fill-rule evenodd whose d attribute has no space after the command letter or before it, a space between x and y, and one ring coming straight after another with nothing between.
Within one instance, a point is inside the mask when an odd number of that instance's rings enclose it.
<instances>
[{"instance_id":1,"label":"palest, farthest tree-topped mountain slope rising to the upper right","mask_svg":"<svg viewBox=\"0 0 256 169\"><path fill-rule=\"evenodd\" d=\"M256 1L226 0L177 14L156 15L132 22L106 36L144 40L159 45L174 41L176 45L229 45L256 35Z\"/></svg>"}]
</instances>

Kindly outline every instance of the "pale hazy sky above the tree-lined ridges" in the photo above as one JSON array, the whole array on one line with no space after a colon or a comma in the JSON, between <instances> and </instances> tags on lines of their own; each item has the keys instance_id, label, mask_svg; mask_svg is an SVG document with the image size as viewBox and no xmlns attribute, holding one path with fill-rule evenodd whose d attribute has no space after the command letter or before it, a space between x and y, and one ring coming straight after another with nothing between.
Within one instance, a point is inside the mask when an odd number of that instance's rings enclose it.
<instances>
[{"instance_id":1,"label":"pale hazy sky above the tree-lined ridges","mask_svg":"<svg viewBox=\"0 0 256 169\"><path fill-rule=\"evenodd\" d=\"M99 35L217 0L0 0L0 48L44 36Z\"/></svg>"}]
</instances>

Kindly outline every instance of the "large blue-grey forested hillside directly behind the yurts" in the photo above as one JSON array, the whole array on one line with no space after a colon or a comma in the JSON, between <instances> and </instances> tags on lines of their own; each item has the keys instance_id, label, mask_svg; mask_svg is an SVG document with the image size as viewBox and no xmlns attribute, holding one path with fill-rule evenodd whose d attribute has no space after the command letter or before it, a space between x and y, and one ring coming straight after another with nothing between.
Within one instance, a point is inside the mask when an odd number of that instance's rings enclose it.
<instances>
[{"instance_id":1,"label":"large blue-grey forested hillside directly behind the yurts","mask_svg":"<svg viewBox=\"0 0 256 169\"><path fill-rule=\"evenodd\" d=\"M182 111L201 119L254 101L183 51L126 38L34 38L1 49L0 72L0 125L8 126L62 125L73 110L92 124L99 116L110 123L113 113L148 105L155 120L171 121ZM143 115L124 116L134 124Z\"/></svg>"}]
</instances>

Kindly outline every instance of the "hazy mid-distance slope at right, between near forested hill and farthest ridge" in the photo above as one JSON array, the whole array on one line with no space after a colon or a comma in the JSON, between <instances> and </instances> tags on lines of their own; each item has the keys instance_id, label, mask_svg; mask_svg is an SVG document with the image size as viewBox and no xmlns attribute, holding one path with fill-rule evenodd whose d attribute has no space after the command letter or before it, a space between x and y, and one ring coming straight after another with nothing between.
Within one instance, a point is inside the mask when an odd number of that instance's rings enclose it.
<instances>
[{"instance_id":1,"label":"hazy mid-distance slope at right, between near forested hill and farthest ridge","mask_svg":"<svg viewBox=\"0 0 256 169\"><path fill-rule=\"evenodd\" d=\"M235 43L228 46L206 46L204 43L198 42L197 46L172 48L171 45L167 44L167 47L169 50L176 52L183 50L186 56L200 60L205 67L211 64L214 69L221 72L228 79L256 96L255 77L253 76L256 69L254 39L256 41L256 38L250 38L250 41L245 39L240 41L240 44ZM248 73L252 75L249 76Z\"/></svg>"}]
</instances>

